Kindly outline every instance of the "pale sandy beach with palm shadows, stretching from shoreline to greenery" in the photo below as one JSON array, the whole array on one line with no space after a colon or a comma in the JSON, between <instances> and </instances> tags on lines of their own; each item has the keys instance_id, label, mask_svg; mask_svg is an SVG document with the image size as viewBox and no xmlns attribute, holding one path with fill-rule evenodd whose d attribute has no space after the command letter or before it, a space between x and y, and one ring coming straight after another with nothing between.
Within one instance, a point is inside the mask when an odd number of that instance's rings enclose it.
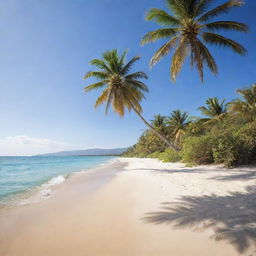
<instances>
[{"instance_id":1,"label":"pale sandy beach with palm shadows, stretching from shoreline to greenery","mask_svg":"<svg viewBox=\"0 0 256 256\"><path fill-rule=\"evenodd\" d=\"M120 158L1 209L0 255L256 255L255 178L255 167Z\"/></svg>"}]
</instances>

